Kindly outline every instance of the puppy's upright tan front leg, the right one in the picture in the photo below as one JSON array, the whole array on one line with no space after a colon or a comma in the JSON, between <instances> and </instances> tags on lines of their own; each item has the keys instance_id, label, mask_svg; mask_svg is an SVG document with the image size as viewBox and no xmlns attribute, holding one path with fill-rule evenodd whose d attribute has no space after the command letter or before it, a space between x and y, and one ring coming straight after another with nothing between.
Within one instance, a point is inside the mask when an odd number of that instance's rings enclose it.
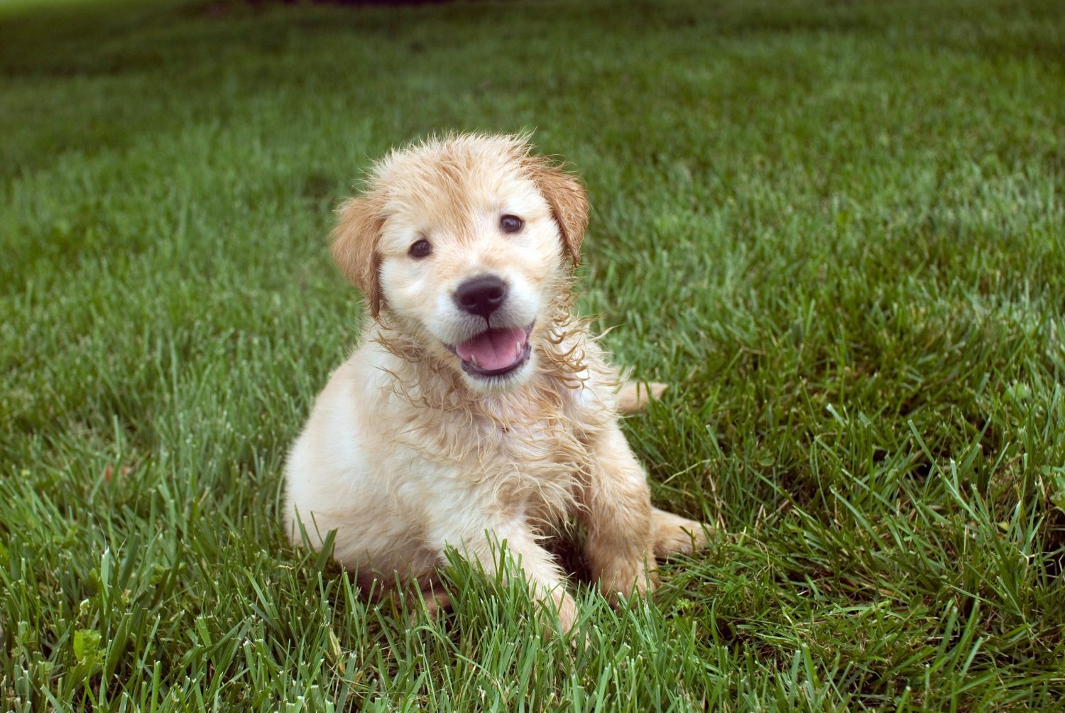
<instances>
[{"instance_id":1,"label":"puppy's upright tan front leg, the right one in the picture","mask_svg":"<svg viewBox=\"0 0 1065 713\"><path fill-rule=\"evenodd\" d=\"M646 475L617 423L589 444L592 465L580 489L578 517L593 579L603 594L644 594L656 582L651 490Z\"/></svg>"}]
</instances>

